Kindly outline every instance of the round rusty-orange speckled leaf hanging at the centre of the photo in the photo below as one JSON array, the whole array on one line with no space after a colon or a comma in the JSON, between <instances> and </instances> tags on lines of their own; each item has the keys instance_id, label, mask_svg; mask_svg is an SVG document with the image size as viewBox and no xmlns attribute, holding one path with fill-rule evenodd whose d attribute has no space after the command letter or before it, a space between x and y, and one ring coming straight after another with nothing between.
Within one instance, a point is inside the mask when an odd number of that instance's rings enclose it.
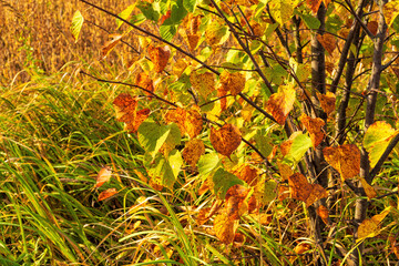
<instances>
[{"instance_id":1,"label":"round rusty-orange speckled leaf hanging at the centre of the photo","mask_svg":"<svg viewBox=\"0 0 399 266\"><path fill-rule=\"evenodd\" d=\"M211 127L209 140L216 152L229 156L241 144L241 132L232 124L225 124L219 130Z\"/></svg>"}]
</instances>

